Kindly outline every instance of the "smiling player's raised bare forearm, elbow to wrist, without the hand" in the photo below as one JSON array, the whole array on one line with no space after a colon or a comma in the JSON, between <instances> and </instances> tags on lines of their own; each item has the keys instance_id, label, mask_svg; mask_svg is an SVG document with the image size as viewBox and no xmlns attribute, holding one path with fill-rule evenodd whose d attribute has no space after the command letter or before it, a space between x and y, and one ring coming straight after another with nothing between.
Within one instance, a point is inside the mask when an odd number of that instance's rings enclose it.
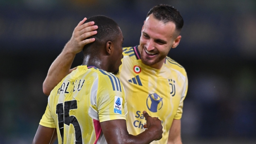
<instances>
[{"instance_id":1,"label":"smiling player's raised bare forearm, elbow to wrist, without the hand","mask_svg":"<svg viewBox=\"0 0 256 144\"><path fill-rule=\"evenodd\" d=\"M60 55L53 61L46 79L43 82L43 93L50 95L51 90L68 75L72 62L75 58L75 53L68 51L69 43L65 45Z\"/></svg>"}]
</instances>

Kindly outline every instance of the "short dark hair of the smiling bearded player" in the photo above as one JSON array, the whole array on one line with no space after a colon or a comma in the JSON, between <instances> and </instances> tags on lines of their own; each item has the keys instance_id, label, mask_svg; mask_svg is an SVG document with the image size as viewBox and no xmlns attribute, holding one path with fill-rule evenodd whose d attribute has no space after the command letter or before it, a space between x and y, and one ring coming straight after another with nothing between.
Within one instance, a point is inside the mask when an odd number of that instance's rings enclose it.
<instances>
[{"instance_id":1,"label":"short dark hair of the smiling bearded player","mask_svg":"<svg viewBox=\"0 0 256 144\"><path fill-rule=\"evenodd\" d=\"M147 17L153 14L156 19L159 21L163 21L164 23L167 23L169 21L173 21L176 30L181 31L181 28L183 27L183 18L181 17L181 14L177 9L170 5L156 5L150 11L147 13Z\"/></svg>"}]
</instances>

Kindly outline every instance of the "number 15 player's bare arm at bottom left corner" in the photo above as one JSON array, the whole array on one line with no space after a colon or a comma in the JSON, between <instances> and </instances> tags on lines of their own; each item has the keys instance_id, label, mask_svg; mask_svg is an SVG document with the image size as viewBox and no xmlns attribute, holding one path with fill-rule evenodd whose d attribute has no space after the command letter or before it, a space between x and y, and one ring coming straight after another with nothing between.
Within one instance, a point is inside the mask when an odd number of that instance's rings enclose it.
<instances>
[{"instance_id":1,"label":"number 15 player's bare arm at bottom left corner","mask_svg":"<svg viewBox=\"0 0 256 144\"><path fill-rule=\"evenodd\" d=\"M57 139L56 128L39 125L32 144L53 144Z\"/></svg>"}]
</instances>

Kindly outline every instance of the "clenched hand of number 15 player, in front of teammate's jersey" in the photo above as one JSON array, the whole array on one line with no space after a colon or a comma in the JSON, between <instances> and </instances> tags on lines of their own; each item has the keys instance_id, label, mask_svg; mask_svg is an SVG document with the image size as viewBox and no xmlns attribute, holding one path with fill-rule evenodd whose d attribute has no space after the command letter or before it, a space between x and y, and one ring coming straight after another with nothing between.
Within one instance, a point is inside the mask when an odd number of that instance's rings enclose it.
<instances>
[{"instance_id":1,"label":"clenched hand of number 15 player, in front of teammate's jersey","mask_svg":"<svg viewBox=\"0 0 256 144\"><path fill-rule=\"evenodd\" d=\"M147 128L148 131L152 132L155 140L161 139L163 133L163 126L161 120L156 117L152 118L146 111L143 111L143 116L147 120L146 125L143 125L143 127Z\"/></svg>"}]
</instances>

